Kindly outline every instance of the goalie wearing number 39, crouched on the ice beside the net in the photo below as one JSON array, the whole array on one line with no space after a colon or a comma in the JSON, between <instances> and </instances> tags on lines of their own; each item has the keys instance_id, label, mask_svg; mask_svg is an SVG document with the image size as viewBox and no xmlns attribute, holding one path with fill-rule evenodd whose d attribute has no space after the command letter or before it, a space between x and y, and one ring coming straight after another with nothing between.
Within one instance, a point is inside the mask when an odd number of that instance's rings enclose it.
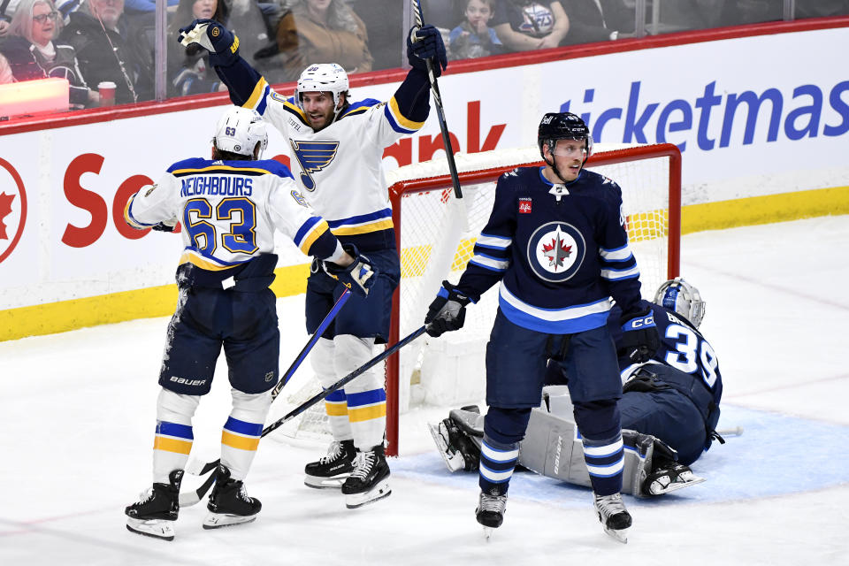
<instances>
[{"instance_id":1,"label":"goalie wearing number 39, crouched on the ice beside the net","mask_svg":"<svg viewBox=\"0 0 849 566\"><path fill-rule=\"evenodd\" d=\"M705 303L696 287L670 279L658 288L654 303L643 304L654 312L661 345L646 363L621 360L625 385L619 411L627 447L623 492L653 496L703 481L690 464L720 438L715 426L723 379L714 350L699 331ZM615 306L608 327L621 345L618 313ZM580 440L569 394L563 391L567 382L562 365L549 363L543 402L532 410L518 463L549 478L590 486L577 446L570 446ZM478 469L484 435L478 413L476 407L452 409L447 419L431 425L448 470Z\"/></svg>"}]
</instances>

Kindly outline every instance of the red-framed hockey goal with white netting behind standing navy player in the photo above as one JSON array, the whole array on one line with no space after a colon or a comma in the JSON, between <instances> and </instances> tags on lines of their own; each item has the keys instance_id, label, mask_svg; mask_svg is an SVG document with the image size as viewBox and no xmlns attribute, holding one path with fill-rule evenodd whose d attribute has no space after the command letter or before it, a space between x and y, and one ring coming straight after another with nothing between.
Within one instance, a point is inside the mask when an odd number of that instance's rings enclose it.
<instances>
[{"instance_id":1,"label":"red-framed hockey goal with white netting behind standing navy player","mask_svg":"<svg viewBox=\"0 0 849 566\"><path fill-rule=\"evenodd\" d=\"M456 282L471 257L480 230L492 210L494 183L516 167L542 165L539 149L497 149L455 156L463 199L455 199L447 161L442 158L389 172L389 196L398 251L401 284L395 290L389 343L413 332L424 322L427 305L442 279ZM681 153L675 145L632 147L596 145L586 168L615 180L623 189L623 212L629 241L640 269L643 296L651 298L664 280L679 270L681 232ZM497 286L496 286L497 287ZM387 454L398 454L399 416L412 402L440 406L478 401L483 375L482 344L486 343L497 306L497 290L487 291L467 310L466 325L447 341L419 338L386 361ZM486 303L486 304L485 304ZM450 353L451 342L455 352ZM448 354L445 354L448 352ZM424 387L429 365L440 357L460 356L452 365L463 379L452 381L444 367ZM453 359L453 358L452 358ZM470 370L473 368L473 370ZM473 376L469 376L472 373ZM444 381L434 385L435 381ZM470 382L477 390L461 391ZM424 390L424 392L423 392Z\"/></svg>"}]
</instances>

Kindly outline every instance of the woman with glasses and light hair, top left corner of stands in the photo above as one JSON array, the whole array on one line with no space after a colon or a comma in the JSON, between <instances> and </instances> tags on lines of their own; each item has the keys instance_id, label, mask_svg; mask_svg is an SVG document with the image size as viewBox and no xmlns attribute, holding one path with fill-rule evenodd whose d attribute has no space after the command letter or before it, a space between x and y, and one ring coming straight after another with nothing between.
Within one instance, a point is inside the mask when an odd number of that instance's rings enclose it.
<instances>
[{"instance_id":1,"label":"woman with glasses and light hair, top left corner of stands","mask_svg":"<svg viewBox=\"0 0 849 566\"><path fill-rule=\"evenodd\" d=\"M0 76L11 74L18 81L66 79L72 106L95 105L100 97L82 79L73 47L53 42L61 27L62 18L53 0L21 0L0 49L8 67L8 71L0 71Z\"/></svg>"}]
</instances>

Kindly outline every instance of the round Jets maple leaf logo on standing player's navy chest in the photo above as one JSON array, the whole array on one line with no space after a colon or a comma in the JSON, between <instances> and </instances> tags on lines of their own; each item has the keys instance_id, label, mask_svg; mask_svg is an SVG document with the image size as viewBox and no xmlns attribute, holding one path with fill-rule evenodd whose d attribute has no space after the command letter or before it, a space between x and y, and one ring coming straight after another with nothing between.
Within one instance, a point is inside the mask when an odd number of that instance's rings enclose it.
<instances>
[{"instance_id":1,"label":"round Jets maple leaf logo on standing player's navy chest","mask_svg":"<svg viewBox=\"0 0 849 566\"><path fill-rule=\"evenodd\" d=\"M528 264L539 279L561 283L571 279L584 262L586 243L575 226L548 222L528 241Z\"/></svg>"}]
</instances>

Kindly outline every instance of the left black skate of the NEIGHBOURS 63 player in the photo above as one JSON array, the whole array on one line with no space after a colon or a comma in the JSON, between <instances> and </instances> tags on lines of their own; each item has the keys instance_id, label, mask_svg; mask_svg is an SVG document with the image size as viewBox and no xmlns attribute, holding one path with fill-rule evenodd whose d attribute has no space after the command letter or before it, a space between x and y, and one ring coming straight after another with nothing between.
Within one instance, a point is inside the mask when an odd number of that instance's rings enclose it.
<instances>
[{"instance_id":1,"label":"left black skate of the NEIGHBOURS 63 player","mask_svg":"<svg viewBox=\"0 0 849 566\"><path fill-rule=\"evenodd\" d=\"M168 480L167 484L149 487L140 495L140 501L124 509L127 531L156 539L174 539L174 521L180 513L183 470L172 470Z\"/></svg>"}]
</instances>

